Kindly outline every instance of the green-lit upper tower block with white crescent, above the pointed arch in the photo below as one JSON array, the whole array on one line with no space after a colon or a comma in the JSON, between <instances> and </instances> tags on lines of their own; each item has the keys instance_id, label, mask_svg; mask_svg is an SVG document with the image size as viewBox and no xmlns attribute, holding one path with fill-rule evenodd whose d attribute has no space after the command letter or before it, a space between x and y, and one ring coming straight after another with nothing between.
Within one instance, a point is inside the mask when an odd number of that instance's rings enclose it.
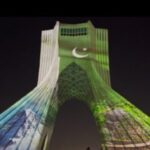
<instances>
[{"instance_id":1,"label":"green-lit upper tower block with white crescent, above the pointed arch","mask_svg":"<svg viewBox=\"0 0 150 150\"><path fill-rule=\"evenodd\" d=\"M59 56L78 63L92 61L102 79L110 85L108 30L95 28L88 21L59 26Z\"/></svg>"}]
</instances>

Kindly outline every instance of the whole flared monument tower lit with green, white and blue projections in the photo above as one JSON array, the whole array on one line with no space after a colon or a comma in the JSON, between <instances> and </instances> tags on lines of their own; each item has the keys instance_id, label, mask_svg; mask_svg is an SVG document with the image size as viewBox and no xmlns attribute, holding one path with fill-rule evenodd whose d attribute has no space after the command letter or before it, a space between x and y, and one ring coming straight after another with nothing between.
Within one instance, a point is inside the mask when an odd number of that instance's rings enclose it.
<instances>
[{"instance_id":1,"label":"whole flared monument tower lit with green, white and blue projections","mask_svg":"<svg viewBox=\"0 0 150 150\"><path fill-rule=\"evenodd\" d=\"M42 31L37 86L0 114L0 150L50 150L70 99L88 106L101 150L150 150L150 117L112 89L108 31L90 21Z\"/></svg>"}]
</instances>

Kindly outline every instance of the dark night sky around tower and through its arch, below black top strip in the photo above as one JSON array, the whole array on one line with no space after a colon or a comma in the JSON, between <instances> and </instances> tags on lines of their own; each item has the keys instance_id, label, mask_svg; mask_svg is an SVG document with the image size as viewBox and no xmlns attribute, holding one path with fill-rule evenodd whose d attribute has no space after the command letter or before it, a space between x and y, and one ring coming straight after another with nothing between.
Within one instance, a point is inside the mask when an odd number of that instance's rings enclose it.
<instances>
[{"instance_id":1,"label":"dark night sky around tower and through its arch, below black top strip","mask_svg":"<svg viewBox=\"0 0 150 150\"><path fill-rule=\"evenodd\" d=\"M56 20L92 20L95 27L109 29L112 87L150 115L150 17L1 17L0 112L36 86L41 30L53 28ZM72 101L60 112L51 149L98 150L99 136L86 106Z\"/></svg>"}]
</instances>

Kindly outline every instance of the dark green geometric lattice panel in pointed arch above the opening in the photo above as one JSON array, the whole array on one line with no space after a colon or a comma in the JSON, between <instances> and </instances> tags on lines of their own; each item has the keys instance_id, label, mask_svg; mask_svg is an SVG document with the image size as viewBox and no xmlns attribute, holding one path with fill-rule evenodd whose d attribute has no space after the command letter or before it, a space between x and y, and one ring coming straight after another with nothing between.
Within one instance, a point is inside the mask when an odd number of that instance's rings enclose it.
<instances>
[{"instance_id":1,"label":"dark green geometric lattice panel in pointed arch above the opening","mask_svg":"<svg viewBox=\"0 0 150 150\"><path fill-rule=\"evenodd\" d=\"M58 87L61 103L71 98L86 101L94 99L86 71L76 63L71 63L60 73Z\"/></svg>"}]
</instances>

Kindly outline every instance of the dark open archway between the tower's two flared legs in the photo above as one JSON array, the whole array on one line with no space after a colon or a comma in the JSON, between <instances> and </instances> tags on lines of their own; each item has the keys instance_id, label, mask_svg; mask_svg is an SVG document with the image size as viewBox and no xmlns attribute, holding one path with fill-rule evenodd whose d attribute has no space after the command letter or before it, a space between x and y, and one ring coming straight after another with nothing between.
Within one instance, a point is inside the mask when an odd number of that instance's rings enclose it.
<instances>
[{"instance_id":1,"label":"dark open archway between the tower's two flared legs","mask_svg":"<svg viewBox=\"0 0 150 150\"><path fill-rule=\"evenodd\" d=\"M51 150L99 150L100 136L95 120L84 102L70 99L58 112L49 145Z\"/></svg>"}]
</instances>

